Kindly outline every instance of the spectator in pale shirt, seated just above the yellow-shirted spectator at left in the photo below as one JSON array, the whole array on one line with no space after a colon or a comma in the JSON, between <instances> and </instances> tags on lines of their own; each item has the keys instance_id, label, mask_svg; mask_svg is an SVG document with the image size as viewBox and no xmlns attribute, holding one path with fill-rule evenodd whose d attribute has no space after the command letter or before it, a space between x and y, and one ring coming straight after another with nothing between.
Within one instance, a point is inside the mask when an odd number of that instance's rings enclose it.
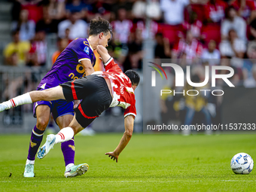
<instances>
[{"instance_id":1,"label":"spectator in pale shirt, seated just above the yellow-shirted spectator at left","mask_svg":"<svg viewBox=\"0 0 256 192\"><path fill-rule=\"evenodd\" d=\"M29 11L20 11L20 18L18 21L11 23L12 31L20 31L20 41L29 41L35 36L35 22L29 20Z\"/></svg>"}]
</instances>

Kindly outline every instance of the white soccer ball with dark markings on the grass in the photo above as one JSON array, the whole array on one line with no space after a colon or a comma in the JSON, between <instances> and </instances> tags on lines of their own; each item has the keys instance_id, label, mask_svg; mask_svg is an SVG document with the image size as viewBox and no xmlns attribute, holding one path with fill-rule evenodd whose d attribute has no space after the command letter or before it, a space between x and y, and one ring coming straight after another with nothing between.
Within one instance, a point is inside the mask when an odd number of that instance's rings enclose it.
<instances>
[{"instance_id":1,"label":"white soccer ball with dark markings on the grass","mask_svg":"<svg viewBox=\"0 0 256 192\"><path fill-rule=\"evenodd\" d=\"M236 174L249 174L253 169L253 160L250 155L239 153L232 158L230 167Z\"/></svg>"}]
</instances>

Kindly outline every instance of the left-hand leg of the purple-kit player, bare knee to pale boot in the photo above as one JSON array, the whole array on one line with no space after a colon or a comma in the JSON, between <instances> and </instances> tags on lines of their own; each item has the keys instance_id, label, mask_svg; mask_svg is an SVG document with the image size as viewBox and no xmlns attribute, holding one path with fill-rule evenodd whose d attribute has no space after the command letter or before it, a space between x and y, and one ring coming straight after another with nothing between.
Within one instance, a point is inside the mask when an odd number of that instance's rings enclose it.
<instances>
[{"instance_id":1,"label":"left-hand leg of the purple-kit player, bare knee to pale boot","mask_svg":"<svg viewBox=\"0 0 256 192\"><path fill-rule=\"evenodd\" d=\"M44 130L47 127L48 121L50 119L50 107L48 105L38 105L35 108L35 111L37 115L37 122L31 133L31 139L29 142L29 154L26 160L25 171L23 174L24 177L34 177L35 175L35 154L41 145Z\"/></svg>"}]
</instances>

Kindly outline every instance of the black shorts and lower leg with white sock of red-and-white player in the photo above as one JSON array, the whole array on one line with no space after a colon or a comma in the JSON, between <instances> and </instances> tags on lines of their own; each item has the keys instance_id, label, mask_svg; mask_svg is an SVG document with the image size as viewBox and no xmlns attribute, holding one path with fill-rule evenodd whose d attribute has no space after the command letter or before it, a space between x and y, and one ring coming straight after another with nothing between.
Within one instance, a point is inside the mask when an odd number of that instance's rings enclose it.
<instances>
[{"instance_id":1,"label":"black shorts and lower leg with white sock of red-and-white player","mask_svg":"<svg viewBox=\"0 0 256 192\"><path fill-rule=\"evenodd\" d=\"M84 78L84 80L78 79L73 83L75 86L72 87L70 87L70 84L62 84L62 86L64 85L63 93L67 100L69 100L68 98L72 99L74 95L83 95L83 92L84 95L90 91L92 92L92 90L94 92L90 93L90 95L86 95L78 105L78 108L74 109L75 117L69 127L60 130L56 136L47 136L47 142L38 151L38 158L45 157L56 143L66 142L72 139L75 134L82 130L82 127L87 127L96 117L99 117L99 114L102 114L102 112L111 105L112 96L108 90L108 84L106 84L105 79L96 76L90 76L90 78L93 78L93 82L96 84L92 84L91 81L88 81L89 78ZM78 82L78 84L76 82ZM78 89L76 89L77 87Z\"/></svg>"}]
</instances>

